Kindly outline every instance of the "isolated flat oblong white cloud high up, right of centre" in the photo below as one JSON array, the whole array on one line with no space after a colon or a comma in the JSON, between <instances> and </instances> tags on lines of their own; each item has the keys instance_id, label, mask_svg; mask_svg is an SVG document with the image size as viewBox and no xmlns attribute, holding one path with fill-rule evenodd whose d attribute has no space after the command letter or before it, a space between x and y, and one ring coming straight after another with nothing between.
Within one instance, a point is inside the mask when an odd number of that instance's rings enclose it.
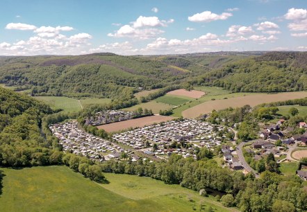
<instances>
[{"instance_id":1,"label":"isolated flat oblong white cloud high up, right of centre","mask_svg":"<svg viewBox=\"0 0 307 212\"><path fill-rule=\"evenodd\" d=\"M223 12L221 15L217 15L211 11L204 11L201 13L194 14L191 17L188 17L188 20L193 22L210 22L217 20L225 20L231 16L233 15L229 12Z\"/></svg>"}]
</instances>

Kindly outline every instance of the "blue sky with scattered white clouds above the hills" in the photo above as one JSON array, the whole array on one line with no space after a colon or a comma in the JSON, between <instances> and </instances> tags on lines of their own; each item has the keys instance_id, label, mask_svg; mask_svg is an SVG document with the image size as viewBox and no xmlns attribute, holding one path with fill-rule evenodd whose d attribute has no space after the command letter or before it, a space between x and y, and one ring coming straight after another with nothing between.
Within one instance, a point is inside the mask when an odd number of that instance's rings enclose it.
<instances>
[{"instance_id":1,"label":"blue sky with scattered white clouds above the hills","mask_svg":"<svg viewBox=\"0 0 307 212\"><path fill-rule=\"evenodd\" d=\"M307 0L1 0L0 55L307 51Z\"/></svg>"}]
</instances>

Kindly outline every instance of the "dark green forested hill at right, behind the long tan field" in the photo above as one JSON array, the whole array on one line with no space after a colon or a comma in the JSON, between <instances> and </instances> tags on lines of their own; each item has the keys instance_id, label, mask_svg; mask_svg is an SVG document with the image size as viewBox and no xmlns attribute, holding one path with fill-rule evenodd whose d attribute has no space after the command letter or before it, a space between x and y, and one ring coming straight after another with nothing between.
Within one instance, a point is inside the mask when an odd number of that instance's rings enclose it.
<instances>
[{"instance_id":1,"label":"dark green forested hill at right, behind the long tan field","mask_svg":"<svg viewBox=\"0 0 307 212\"><path fill-rule=\"evenodd\" d=\"M307 90L307 52L271 52L246 58L205 73L192 83L234 92Z\"/></svg>"}]
</instances>

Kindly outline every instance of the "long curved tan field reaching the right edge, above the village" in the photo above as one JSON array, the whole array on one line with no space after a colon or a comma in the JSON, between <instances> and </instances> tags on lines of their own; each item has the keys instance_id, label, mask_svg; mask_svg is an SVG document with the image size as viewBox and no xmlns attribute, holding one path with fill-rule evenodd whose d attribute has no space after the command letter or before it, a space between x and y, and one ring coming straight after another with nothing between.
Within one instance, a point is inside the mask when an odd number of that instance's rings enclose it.
<instances>
[{"instance_id":1,"label":"long curved tan field reaching the right edge, above the village","mask_svg":"<svg viewBox=\"0 0 307 212\"><path fill-rule=\"evenodd\" d=\"M296 98L305 98L307 92L287 92L279 94L254 94L249 96L240 96L235 98L228 98L222 100L210 100L205 103L201 103L190 109L186 109L182 112L185 118L196 118L200 114L207 114L215 110L226 109L227 107L242 107L244 105L250 105L254 107L261 103L272 103L282 100L290 100Z\"/></svg>"}]
</instances>

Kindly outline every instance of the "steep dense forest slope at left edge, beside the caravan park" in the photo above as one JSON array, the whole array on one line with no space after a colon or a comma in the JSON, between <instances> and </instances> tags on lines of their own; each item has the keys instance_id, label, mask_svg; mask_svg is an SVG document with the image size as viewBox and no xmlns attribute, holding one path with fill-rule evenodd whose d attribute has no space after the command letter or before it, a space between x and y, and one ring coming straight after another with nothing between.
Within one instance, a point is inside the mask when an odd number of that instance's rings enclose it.
<instances>
[{"instance_id":1,"label":"steep dense forest slope at left edge, beside the caravan park","mask_svg":"<svg viewBox=\"0 0 307 212\"><path fill-rule=\"evenodd\" d=\"M0 166L42 165L56 141L41 135L42 116L49 106L0 87Z\"/></svg>"}]
</instances>

